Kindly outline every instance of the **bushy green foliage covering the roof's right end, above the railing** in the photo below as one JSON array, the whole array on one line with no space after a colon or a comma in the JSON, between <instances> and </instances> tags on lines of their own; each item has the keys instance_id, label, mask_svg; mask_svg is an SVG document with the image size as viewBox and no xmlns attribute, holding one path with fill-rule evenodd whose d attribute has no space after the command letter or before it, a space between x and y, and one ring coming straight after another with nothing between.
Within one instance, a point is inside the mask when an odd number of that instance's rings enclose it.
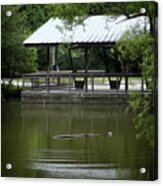
<instances>
[{"instance_id":1,"label":"bushy green foliage covering the roof's right end, above the railing","mask_svg":"<svg viewBox=\"0 0 163 186\"><path fill-rule=\"evenodd\" d=\"M128 66L132 71L134 66L141 70L145 79L153 79L154 75L154 39L149 34L126 33L118 42L118 58L122 68Z\"/></svg>"}]
</instances>

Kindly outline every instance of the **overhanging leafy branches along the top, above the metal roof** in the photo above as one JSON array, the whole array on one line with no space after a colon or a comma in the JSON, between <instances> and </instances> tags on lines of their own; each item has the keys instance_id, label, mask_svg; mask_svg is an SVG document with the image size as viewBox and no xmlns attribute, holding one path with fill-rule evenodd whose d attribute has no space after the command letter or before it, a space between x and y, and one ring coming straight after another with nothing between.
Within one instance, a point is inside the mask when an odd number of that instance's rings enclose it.
<instances>
[{"instance_id":1,"label":"overhanging leafy branches along the top, above the metal roof","mask_svg":"<svg viewBox=\"0 0 163 186\"><path fill-rule=\"evenodd\" d=\"M144 13L140 12L141 8L145 9ZM75 16L84 18L90 15L125 15L126 19L148 16L150 33L153 36L155 35L157 3L154 1L54 4L46 5L45 10L48 12L48 16L66 19L67 23L72 23Z\"/></svg>"}]
</instances>

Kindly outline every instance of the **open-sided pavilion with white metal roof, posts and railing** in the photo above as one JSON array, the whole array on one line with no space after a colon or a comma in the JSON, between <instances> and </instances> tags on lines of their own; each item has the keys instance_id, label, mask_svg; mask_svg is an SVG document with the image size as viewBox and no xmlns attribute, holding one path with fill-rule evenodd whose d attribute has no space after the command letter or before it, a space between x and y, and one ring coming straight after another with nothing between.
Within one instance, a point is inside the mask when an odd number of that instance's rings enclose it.
<instances>
[{"instance_id":1,"label":"open-sided pavilion with white metal roof, posts and railing","mask_svg":"<svg viewBox=\"0 0 163 186\"><path fill-rule=\"evenodd\" d=\"M58 84L61 77L69 78L69 89L71 90L72 79L83 77L85 84L85 92L88 91L88 78L92 79L92 90L94 90L94 78L116 77L116 89L119 89L119 78L125 78L125 91L128 91L128 78L141 76L141 74L129 74L127 71L123 73L108 73L107 58L105 57L106 71L89 71L91 65L91 49L92 47L102 47L104 56L106 48L113 47L116 42L128 31L135 29L135 34L139 34L144 30L149 30L149 20L145 16L127 19L125 16L90 16L83 18L83 22L78 24L76 17L71 25L66 24L66 20L59 18L51 18L40 28L38 28L24 42L26 47L46 47L47 48L47 71L24 74L23 78L35 80L39 77L46 79L47 92L50 91L50 78L57 78ZM57 52L61 44L68 44L69 62L71 64L71 72L62 72L56 70L57 67ZM53 49L53 61L50 62L50 48ZM85 51L85 69L83 72L76 72L74 69L72 50L83 48ZM143 88L142 78L142 90Z\"/></svg>"}]
</instances>

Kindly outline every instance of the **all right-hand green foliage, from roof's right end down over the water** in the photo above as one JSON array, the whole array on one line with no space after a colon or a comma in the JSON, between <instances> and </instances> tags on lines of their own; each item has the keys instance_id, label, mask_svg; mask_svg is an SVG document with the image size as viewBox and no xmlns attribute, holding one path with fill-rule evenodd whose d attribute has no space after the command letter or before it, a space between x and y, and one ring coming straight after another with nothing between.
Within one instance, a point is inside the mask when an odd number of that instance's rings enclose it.
<instances>
[{"instance_id":1,"label":"all right-hand green foliage, from roof's right end down over the water","mask_svg":"<svg viewBox=\"0 0 163 186\"><path fill-rule=\"evenodd\" d=\"M147 88L154 91L154 76L156 59L154 57L154 39L149 34L140 34L135 37L127 33L117 43L119 50L119 59L123 65L138 64L145 80ZM133 119L136 137L146 139L150 145L154 145L154 130L156 117L154 114L154 97L153 93L130 95L130 109L135 113Z\"/></svg>"}]
</instances>

